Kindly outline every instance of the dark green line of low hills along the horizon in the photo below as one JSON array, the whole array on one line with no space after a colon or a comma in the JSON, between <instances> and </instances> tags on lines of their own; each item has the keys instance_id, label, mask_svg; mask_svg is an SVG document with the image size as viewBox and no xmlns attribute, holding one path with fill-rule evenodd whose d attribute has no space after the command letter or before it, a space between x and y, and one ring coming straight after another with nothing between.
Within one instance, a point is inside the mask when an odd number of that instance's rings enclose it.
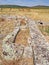
<instances>
[{"instance_id":1,"label":"dark green line of low hills along the horizon","mask_svg":"<svg viewBox=\"0 0 49 65\"><path fill-rule=\"evenodd\" d=\"M0 8L33 8L33 9L49 9L49 6L37 5L37 6L27 7L27 6L20 6L20 5L0 5Z\"/></svg>"}]
</instances>

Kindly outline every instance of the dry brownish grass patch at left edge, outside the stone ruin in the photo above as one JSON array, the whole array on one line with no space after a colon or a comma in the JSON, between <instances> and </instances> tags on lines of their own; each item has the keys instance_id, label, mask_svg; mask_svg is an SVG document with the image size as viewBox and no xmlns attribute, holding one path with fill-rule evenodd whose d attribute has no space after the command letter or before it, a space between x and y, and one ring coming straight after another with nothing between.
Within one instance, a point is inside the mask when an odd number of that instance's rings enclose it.
<instances>
[{"instance_id":1,"label":"dry brownish grass patch at left edge, outside the stone ruin","mask_svg":"<svg viewBox=\"0 0 49 65\"><path fill-rule=\"evenodd\" d=\"M12 22L12 23L11 23ZM0 22L0 34L6 36L7 34L9 34L10 32L13 31L15 27L15 23L14 20L4 20Z\"/></svg>"}]
</instances>

